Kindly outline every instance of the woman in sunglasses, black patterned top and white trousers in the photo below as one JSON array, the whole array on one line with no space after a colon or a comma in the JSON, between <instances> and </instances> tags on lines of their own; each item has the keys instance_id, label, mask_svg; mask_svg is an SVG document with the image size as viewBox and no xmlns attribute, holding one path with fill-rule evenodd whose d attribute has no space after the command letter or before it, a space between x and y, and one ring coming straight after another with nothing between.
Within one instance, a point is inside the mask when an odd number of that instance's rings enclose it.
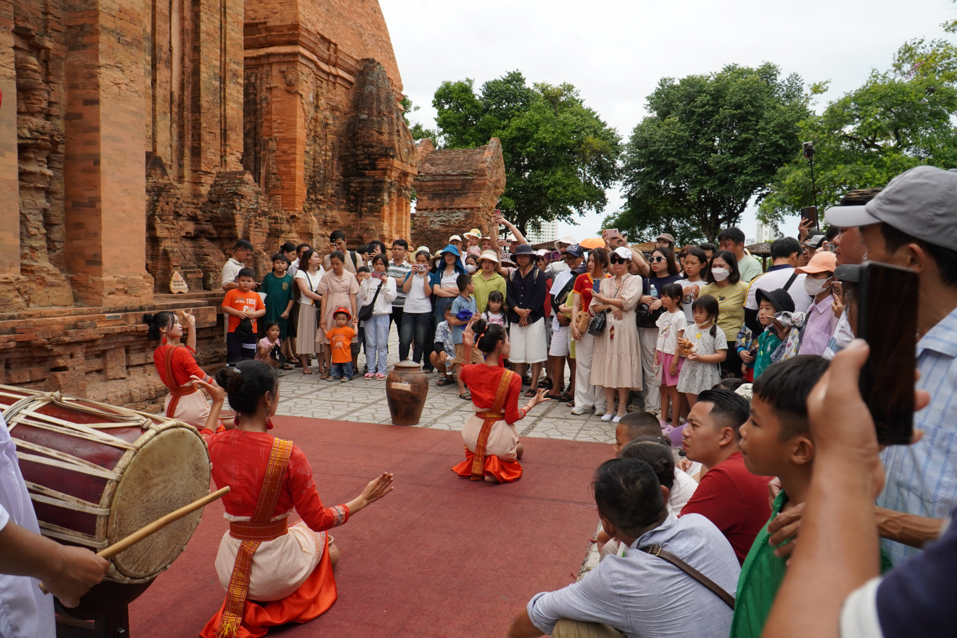
<instances>
[{"instance_id":1,"label":"woman in sunglasses, black patterned top and white trousers","mask_svg":"<svg viewBox=\"0 0 957 638\"><path fill-rule=\"evenodd\" d=\"M644 372L645 409L657 412L661 409L660 391L655 383L655 348L657 344L657 318L664 312L661 307L661 289L681 279L675 252L670 248L656 248L649 257L651 275L643 282L638 306L638 338L641 340L641 369ZM654 286L654 290L652 287ZM661 418L668 420L667 414Z\"/></svg>"}]
</instances>

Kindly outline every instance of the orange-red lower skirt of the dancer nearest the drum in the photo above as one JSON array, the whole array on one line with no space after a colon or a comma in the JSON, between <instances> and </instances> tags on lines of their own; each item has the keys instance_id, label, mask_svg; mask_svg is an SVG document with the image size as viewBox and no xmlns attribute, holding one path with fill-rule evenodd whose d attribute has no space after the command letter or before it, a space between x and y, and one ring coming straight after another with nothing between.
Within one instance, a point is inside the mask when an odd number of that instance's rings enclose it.
<instances>
[{"instance_id":1,"label":"orange-red lower skirt of the dancer nearest the drum","mask_svg":"<svg viewBox=\"0 0 957 638\"><path fill-rule=\"evenodd\" d=\"M236 632L236 638L260 638L266 635L269 627L286 623L308 623L329 610L338 598L336 579L332 574L332 561L329 559L329 535L325 535L323 558L299 589L280 601L253 603L246 600L243 606L242 625ZM226 601L219 607L203 631L202 638L214 638L216 629L222 622Z\"/></svg>"}]
</instances>

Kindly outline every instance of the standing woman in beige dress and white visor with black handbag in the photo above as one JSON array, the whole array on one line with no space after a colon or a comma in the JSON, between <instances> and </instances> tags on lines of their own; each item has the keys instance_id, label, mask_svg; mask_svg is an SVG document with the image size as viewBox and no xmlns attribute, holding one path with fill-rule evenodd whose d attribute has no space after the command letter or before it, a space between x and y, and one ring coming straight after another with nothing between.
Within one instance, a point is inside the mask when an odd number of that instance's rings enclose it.
<instances>
[{"instance_id":1,"label":"standing woman in beige dress and white visor with black handbag","mask_svg":"<svg viewBox=\"0 0 957 638\"><path fill-rule=\"evenodd\" d=\"M641 277L628 272L632 265L631 249L621 246L609 253L611 275L601 280L598 292L591 297L592 314L606 313L605 331L595 337L591 365L591 384L605 388L608 406L602 421L618 423L628 407L628 393L641 387L641 349L638 328L634 323L634 307L641 297ZM614 393L618 392L618 411L614 411Z\"/></svg>"}]
</instances>

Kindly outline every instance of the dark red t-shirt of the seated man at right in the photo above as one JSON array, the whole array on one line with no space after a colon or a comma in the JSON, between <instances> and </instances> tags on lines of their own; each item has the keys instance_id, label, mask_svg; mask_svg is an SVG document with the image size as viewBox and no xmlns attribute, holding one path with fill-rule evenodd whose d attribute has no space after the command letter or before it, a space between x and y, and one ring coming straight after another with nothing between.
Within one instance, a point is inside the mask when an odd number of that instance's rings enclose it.
<instances>
[{"instance_id":1,"label":"dark red t-shirt of the seated man at right","mask_svg":"<svg viewBox=\"0 0 957 638\"><path fill-rule=\"evenodd\" d=\"M681 516L700 514L713 522L731 543L738 562L744 563L751 544L771 516L770 479L748 472L744 456L736 451L704 474L695 494L681 509Z\"/></svg>"}]
</instances>

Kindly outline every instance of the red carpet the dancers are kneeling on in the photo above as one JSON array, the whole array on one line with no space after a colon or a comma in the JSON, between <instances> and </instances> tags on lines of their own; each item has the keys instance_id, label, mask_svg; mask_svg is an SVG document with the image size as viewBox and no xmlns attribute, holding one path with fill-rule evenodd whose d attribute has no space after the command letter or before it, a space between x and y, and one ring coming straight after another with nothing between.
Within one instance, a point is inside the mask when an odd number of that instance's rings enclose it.
<instances>
[{"instance_id":1,"label":"red carpet the dancers are kneeling on","mask_svg":"<svg viewBox=\"0 0 957 638\"><path fill-rule=\"evenodd\" d=\"M308 456L326 506L377 473L395 490L332 530L339 601L289 638L504 636L539 591L574 581L598 523L590 478L612 446L524 438L523 477L459 478L457 431L280 417L274 432ZM132 638L195 636L223 601L213 568L228 529L217 501L185 552L129 608Z\"/></svg>"}]
</instances>

